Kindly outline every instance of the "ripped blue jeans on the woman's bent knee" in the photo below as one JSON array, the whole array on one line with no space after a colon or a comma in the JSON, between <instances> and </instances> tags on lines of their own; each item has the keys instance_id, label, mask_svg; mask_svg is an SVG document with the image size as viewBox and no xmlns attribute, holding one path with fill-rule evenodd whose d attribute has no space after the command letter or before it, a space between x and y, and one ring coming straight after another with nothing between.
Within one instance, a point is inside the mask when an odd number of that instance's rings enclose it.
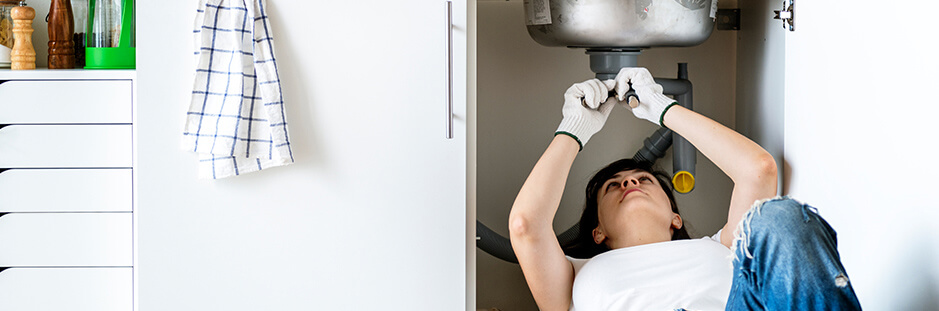
<instances>
[{"instance_id":1,"label":"ripped blue jeans on the woman's bent knee","mask_svg":"<svg viewBox=\"0 0 939 311\"><path fill-rule=\"evenodd\" d=\"M788 197L755 204L734 239L726 310L860 310L833 230Z\"/></svg>"}]
</instances>

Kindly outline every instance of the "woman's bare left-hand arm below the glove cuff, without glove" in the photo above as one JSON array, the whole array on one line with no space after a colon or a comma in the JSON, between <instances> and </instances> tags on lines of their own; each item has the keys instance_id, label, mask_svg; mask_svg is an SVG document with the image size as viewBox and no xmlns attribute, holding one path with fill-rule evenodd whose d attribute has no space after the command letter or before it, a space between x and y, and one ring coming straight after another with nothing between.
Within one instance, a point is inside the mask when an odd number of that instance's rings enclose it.
<instances>
[{"instance_id":1,"label":"woman's bare left-hand arm below the glove cuff, without glove","mask_svg":"<svg viewBox=\"0 0 939 311\"><path fill-rule=\"evenodd\" d=\"M509 214L509 236L532 296L541 310L567 310L574 268L564 256L552 227L561 194L580 146L556 135L535 164Z\"/></svg>"}]
</instances>

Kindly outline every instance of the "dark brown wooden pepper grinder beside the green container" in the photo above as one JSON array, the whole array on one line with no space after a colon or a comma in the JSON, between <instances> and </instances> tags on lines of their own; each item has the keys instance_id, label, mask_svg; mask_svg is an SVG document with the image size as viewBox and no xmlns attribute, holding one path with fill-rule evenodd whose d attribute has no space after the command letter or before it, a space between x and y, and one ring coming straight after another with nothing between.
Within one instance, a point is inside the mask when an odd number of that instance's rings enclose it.
<instances>
[{"instance_id":1,"label":"dark brown wooden pepper grinder beside the green container","mask_svg":"<svg viewBox=\"0 0 939 311\"><path fill-rule=\"evenodd\" d=\"M74 19L69 0L52 0L49 7L49 69L75 68Z\"/></svg>"}]
</instances>

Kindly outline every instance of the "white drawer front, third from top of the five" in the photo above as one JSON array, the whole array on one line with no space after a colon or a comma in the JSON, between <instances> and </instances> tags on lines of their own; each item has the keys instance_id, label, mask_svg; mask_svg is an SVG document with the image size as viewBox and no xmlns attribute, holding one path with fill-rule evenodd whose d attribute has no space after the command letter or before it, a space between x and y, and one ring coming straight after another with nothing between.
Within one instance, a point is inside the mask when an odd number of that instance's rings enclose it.
<instances>
[{"instance_id":1,"label":"white drawer front, third from top of the five","mask_svg":"<svg viewBox=\"0 0 939 311\"><path fill-rule=\"evenodd\" d=\"M0 213L133 211L131 169L0 172Z\"/></svg>"}]
</instances>

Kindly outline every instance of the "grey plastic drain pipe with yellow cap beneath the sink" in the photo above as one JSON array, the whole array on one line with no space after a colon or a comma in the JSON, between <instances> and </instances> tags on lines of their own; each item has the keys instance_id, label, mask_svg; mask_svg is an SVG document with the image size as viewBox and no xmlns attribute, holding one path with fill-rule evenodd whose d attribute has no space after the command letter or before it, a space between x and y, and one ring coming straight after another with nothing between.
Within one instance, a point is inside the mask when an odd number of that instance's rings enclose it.
<instances>
[{"instance_id":1,"label":"grey plastic drain pipe with yellow cap beneath the sink","mask_svg":"<svg viewBox=\"0 0 939 311\"><path fill-rule=\"evenodd\" d=\"M608 80L616 78L616 74L623 67L637 67L639 54L642 52L639 49L597 48L587 49L586 53L590 57L590 70L596 73L597 79ZM676 79L655 78L655 83L662 85L665 95L675 96L675 100L682 107L693 110L694 98L691 81L688 80L688 63L678 63ZM641 102L642 99L640 98L639 101ZM668 130L665 129L665 131ZM679 193L689 193L694 190L697 150L691 142L675 132L668 131L672 134L671 140L662 139L662 136L667 134L665 131L660 129L646 138L643 148L636 154L640 155L643 160L655 161L664 155L664 150L669 144L674 146L672 185Z\"/></svg>"}]
</instances>

